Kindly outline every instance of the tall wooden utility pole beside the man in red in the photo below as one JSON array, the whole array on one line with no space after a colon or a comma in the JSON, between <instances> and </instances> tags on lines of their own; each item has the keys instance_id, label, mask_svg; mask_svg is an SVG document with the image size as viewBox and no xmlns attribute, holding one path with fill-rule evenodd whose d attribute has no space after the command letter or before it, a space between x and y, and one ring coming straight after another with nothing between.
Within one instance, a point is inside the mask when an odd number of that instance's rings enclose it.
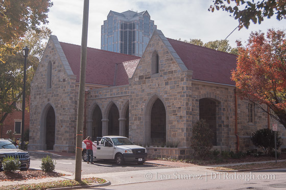
<instances>
[{"instance_id":1,"label":"tall wooden utility pole beside the man in red","mask_svg":"<svg viewBox=\"0 0 286 190\"><path fill-rule=\"evenodd\" d=\"M81 155L82 155L82 135L83 135L83 122L84 122L84 92L85 92L88 7L89 7L89 0L84 0L82 40L81 40L80 88L79 88L78 117L77 117L77 144L76 144L76 171L75 171L76 181L81 181L81 162L82 162Z\"/></svg>"}]
</instances>

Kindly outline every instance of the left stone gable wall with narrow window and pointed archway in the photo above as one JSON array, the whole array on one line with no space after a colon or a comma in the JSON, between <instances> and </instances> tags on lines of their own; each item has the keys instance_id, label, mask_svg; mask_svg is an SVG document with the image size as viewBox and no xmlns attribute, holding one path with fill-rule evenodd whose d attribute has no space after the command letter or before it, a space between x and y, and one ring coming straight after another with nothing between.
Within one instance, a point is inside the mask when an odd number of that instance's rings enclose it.
<instances>
[{"instance_id":1,"label":"left stone gable wall with narrow window and pointed archway","mask_svg":"<svg viewBox=\"0 0 286 190\"><path fill-rule=\"evenodd\" d=\"M47 88L47 64L52 63L52 87ZM54 151L75 152L76 78L66 67L66 58L55 36L47 43L31 84L29 150L45 150L45 115L55 110ZM67 63L68 64L68 63Z\"/></svg>"}]
</instances>

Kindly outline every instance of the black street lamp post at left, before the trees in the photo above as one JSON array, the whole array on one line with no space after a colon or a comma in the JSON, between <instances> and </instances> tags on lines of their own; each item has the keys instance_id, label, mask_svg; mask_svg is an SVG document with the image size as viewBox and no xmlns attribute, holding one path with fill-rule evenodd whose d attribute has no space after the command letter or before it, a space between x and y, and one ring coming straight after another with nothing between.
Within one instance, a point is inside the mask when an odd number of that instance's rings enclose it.
<instances>
[{"instance_id":1,"label":"black street lamp post at left, before the trees","mask_svg":"<svg viewBox=\"0 0 286 190\"><path fill-rule=\"evenodd\" d=\"M21 126L21 149L25 149L25 143L24 143L24 125L25 125L25 97L26 97L26 65L27 65L27 57L29 53L29 48L26 46L23 48L23 56L25 58L24 60L24 78L23 78L23 99L22 99L22 126Z\"/></svg>"}]
</instances>

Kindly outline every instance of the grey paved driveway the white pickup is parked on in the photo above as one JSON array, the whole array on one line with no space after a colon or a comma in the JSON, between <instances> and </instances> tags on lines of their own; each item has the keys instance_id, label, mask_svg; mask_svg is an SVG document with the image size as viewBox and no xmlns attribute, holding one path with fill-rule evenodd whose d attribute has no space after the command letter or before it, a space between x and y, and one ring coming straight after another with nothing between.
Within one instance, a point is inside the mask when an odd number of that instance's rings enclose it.
<instances>
[{"instance_id":1,"label":"grey paved driveway the white pickup is parked on","mask_svg":"<svg viewBox=\"0 0 286 190\"><path fill-rule=\"evenodd\" d=\"M42 151L29 151L31 156L30 168L40 169L41 158L49 155L56 160L56 170L75 173L75 156L73 154L62 154L54 152L42 152ZM97 160L94 164L87 164L82 161L82 174L101 174L111 172L126 172L126 171L138 171L138 170L154 170L171 168L171 166L157 165L151 163L145 163L139 165L137 163L126 163L125 165L116 165L114 161Z\"/></svg>"}]
</instances>

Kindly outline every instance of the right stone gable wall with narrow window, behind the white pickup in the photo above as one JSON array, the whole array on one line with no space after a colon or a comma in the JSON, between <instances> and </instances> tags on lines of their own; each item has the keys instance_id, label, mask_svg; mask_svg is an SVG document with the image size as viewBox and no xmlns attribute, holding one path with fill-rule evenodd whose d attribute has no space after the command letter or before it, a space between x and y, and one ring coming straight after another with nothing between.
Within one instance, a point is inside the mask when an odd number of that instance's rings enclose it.
<instances>
[{"instance_id":1,"label":"right stone gable wall with narrow window, behind the white pickup","mask_svg":"<svg viewBox=\"0 0 286 190\"><path fill-rule=\"evenodd\" d=\"M190 85L192 72L182 70L159 35L152 36L144 55L129 80L130 138L148 145L150 141L151 109L160 99L166 111L166 141L179 141L187 146L190 121ZM152 55L159 56L159 72L152 72Z\"/></svg>"}]
</instances>

